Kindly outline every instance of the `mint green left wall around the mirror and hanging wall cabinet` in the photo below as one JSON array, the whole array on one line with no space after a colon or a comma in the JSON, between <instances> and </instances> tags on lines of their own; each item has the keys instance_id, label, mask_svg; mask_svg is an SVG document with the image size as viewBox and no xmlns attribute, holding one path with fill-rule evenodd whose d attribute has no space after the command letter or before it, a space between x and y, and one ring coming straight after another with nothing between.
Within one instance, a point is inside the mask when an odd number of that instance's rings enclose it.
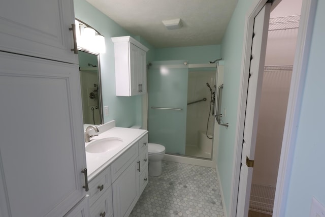
<instances>
[{"instance_id":1,"label":"mint green left wall around the mirror and hanging wall cabinet","mask_svg":"<svg viewBox=\"0 0 325 217\"><path fill-rule=\"evenodd\" d=\"M77 19L92 26L105 36L106 53L101 54L101 73L103 105L109 107L109 115L104 115L104 122L116 120L118 127L141 125L141 96L116 97L114 72L114 44L111 37L131 35L112 19L94 8L85 0L74 0L75 16ZM132 35L131 35L132 36ZM137 38L138 40L140 37ZM143 43L143 40L142 40ZM148 48L152 48L148 43ZM154 58L154 50L149 51L148 59Z\"/></svg>"}]
</instances>

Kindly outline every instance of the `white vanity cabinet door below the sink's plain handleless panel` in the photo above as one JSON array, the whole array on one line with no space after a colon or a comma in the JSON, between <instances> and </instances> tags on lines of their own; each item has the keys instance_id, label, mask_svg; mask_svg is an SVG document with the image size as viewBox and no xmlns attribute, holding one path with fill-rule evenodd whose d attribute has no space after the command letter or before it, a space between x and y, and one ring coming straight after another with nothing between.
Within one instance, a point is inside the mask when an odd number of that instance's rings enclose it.
<instances>
[{"instance_id":1,"label":"white vanity cabinet door below the sink's plain handleless panel","mask_svg":"<svg viewBox=\"0 0 325 217\"><path fill-rule=\"evenodd\" d=\"M140 196L138 159L112 184L114 216L128 216Z\"/></svg>"}]
</instances>

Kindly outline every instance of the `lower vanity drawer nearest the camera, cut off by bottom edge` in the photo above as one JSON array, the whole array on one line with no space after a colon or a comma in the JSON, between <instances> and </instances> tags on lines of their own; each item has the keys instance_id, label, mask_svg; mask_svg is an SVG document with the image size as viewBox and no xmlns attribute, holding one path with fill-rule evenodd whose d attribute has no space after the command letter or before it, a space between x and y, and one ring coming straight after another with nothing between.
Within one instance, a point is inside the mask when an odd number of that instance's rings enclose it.
<instances>
[{"instance_id":1,"label":"lower vanity drawer nearest the camera, cut off by bottom edge","mask_svg":"<svg viewBox=\"0 0 325 217\"><path fill-rule=\"evenodd\" d=\"M113 216L112 186L98 199L94 206L90 207L91 217Z\"/></svg>"}]
</instances>

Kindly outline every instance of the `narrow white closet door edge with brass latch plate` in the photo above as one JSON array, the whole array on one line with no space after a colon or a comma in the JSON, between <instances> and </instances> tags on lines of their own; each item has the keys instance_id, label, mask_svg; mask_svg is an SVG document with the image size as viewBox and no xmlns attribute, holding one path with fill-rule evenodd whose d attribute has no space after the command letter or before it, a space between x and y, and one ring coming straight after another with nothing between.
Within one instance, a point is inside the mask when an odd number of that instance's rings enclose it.
<instances>
[{"instance_id":1,"label":"narrow white closet door edge with brass latch plate","mask_svg":"<svg viewBox=\"0 0 325 217\"><path fill-rule=\"evenodd\" d=\"M242 159L239 178L239 192L236 216L248 216L249 197L257 133L259 102L261 100L263 72L271 4L266 4L254 18L251 60L246 101L245 126L243 135Z\"/></svg>"}]
</instances>

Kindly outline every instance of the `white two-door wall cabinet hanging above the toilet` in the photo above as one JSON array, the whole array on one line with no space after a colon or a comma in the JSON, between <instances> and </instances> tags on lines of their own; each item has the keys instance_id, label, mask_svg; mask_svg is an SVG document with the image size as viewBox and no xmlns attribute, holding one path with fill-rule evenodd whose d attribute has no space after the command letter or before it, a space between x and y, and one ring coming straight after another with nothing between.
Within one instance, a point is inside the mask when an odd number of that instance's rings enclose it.
<instances>
[{"instance_id":1,"label":"white two-door wall cabinet hanging above the toilet","mask_svg":"<svg viewBox=\"0 0 325 217\"><path fill-rule=\"evenodd\" d=\"M149 50L130 36L113 37L116 96L147 92L146 52Z\"/></svg>"}]
</instances>

